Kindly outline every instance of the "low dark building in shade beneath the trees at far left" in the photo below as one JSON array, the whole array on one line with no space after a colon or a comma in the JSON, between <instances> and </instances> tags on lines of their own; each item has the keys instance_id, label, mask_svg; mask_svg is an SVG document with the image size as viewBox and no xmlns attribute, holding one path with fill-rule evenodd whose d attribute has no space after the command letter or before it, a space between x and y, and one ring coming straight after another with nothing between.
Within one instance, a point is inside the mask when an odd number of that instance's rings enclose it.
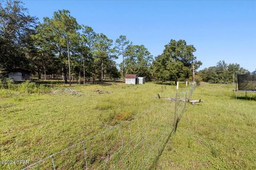
<instances>
[{"instance_id":1,"label":"low dark building in shade beneath the trees at far left","mask_svg":"<svg viewBox=\"0 0 256 170\"><path fill-rule=\"evenodd\" d=\"M13 81L30 80L31 73L27 70L16 69L8 73L8 78Z\"/></svg>"}]
</instances>

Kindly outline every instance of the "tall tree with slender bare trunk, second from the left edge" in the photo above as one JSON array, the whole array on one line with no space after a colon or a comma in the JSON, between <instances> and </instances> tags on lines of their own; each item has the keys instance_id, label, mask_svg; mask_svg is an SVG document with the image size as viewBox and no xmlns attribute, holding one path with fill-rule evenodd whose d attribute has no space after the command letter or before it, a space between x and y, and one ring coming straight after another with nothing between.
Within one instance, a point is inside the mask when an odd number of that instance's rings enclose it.
<instances>
[{"instance_id":1,"label":"tall tree with slender bare trunk, second from the left edge","mask_svg":"<svg viewBox=\"0 0 256 170\"><path fill-rule=\"evenodd\" d=\"M58 56L58 66L62 70L65 83L67 83L68 67L69 84L71 84L71 70L74 71L77 65L78 54L76 50L79 44L79 28L79 24L73 16L70 16L70 12L61 10L54 12L52 19L44 18L44 22L39 23L36 28L36 35L33 36L42 62L45 62L46 54L52 53ZM73 66L71 66L71 61L74 62ZM46 74L46 69L44 72Z\"/></svg>"}]
</instances>

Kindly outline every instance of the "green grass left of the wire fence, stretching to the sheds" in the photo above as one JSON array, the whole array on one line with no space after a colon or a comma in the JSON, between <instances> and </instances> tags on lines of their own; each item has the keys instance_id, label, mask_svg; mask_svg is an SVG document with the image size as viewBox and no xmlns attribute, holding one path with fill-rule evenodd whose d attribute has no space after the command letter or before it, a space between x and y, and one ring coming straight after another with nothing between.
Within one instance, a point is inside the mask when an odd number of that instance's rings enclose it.
<instances>
[{"instance_id":1,"label":"green grass left of the wire fence, stretching to the sheds","mask_svg":"<svg viewBox=\"0 0 256 170\"><path fill-rule=\"evenodd\" d=\"M111 86L73 85L72 88L80 92L77 95L12 92L0 98L1 160L28 160L31 164L93 137L109 126L123 123L106 133L105 139L100 135L84 143L88 166L96 168L108 159L108 155L115 153L118 155L101 168L108 169L117 163L117 169L151 166L172 130L174 111L172 101L154 97L157 93L174 96L174 86L117 83ZM108 91L108 94L99 94L94 89ZM138 135L139 132L143 133ZM127 146L118 152L122 143ZM86 166L82 145L54 156L54 161L58 169ZM51 169L51 166L51 159L47 159L34 168ZM0 169L23 167L25 165L0 164Z\"/></svg>"}]
</instances>

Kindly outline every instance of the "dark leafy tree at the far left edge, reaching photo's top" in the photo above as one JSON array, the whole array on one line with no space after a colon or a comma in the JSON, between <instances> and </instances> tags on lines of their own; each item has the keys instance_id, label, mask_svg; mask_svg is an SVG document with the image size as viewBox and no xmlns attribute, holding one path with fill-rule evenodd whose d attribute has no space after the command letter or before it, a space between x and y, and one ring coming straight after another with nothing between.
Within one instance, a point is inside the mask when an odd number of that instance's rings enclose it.
<instances>
[{"instance_id":1,"label":"dark leafy tree at the far left edge, reaching photo's top","mask_svg":"<svg viewBox=\"0 0 256 170\"><path fill-rule=\"evenodd\" d=\"M20 1L9 0L0 3L0 16L0 70L28 69L27 43L37 19Z\"/></svg>"}]
</instances>

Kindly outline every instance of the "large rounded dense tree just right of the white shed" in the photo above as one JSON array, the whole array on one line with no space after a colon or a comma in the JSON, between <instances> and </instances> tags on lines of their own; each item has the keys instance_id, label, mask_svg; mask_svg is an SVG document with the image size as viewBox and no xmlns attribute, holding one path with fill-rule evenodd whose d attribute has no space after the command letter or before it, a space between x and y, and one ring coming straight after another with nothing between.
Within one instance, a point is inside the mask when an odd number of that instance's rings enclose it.
<instances>
[{"instance_id":1,"label":"large rounded dense tree just right of the white shed","mask_svg":"<svg viewBox=\"0 0 256 170\"><path fill-rule=\"evenodd\" d=\"M153 62L152 72L154 79L160 81L179 81L188 79L191 74L191 66L198 69L201 61L194 56L196 48L187 45L185 40L173 40L165 45L163 54L158 55Z\"/></svg>"}]
</instances>

